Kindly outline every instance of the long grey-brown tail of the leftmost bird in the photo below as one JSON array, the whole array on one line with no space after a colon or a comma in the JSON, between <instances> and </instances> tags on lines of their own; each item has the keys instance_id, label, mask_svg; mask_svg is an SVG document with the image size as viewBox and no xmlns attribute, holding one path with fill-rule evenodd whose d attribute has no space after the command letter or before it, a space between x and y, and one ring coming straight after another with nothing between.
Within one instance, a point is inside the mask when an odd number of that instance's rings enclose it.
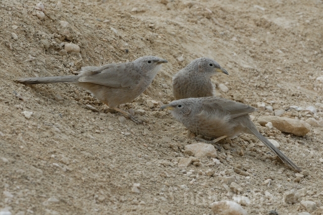
<instances>
[{"instance_id":1,"label":"long grey-brown tail of the leftmost bird","mask_svg":"<svg viewBox=\"0 0 323 215\"><path fill-rule=\"evenodd\" d=\"M48 84L59 82L76 82L80 76L53 76L53 77L29 77L18 78L17 82L22 84Z\"/></svg>"}]
</instances>

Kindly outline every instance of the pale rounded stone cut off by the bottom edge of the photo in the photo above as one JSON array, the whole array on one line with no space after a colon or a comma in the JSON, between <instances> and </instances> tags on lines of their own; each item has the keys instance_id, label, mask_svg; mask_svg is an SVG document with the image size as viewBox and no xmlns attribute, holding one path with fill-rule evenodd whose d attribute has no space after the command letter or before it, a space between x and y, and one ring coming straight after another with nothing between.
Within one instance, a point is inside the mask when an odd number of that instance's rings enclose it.
<instances>
[{"instance_id":1,"label":"pale rounded stone cut off by the bottom edge of the photo","mask_svg":"<svg viewBox=\"0 0 323 215\"><path fill-rule=\"evenodd\" d=\"M218 215L247 215L247 211L234 201L217 201L211 205L212 211Z\"/></svg>"}]
</instances>

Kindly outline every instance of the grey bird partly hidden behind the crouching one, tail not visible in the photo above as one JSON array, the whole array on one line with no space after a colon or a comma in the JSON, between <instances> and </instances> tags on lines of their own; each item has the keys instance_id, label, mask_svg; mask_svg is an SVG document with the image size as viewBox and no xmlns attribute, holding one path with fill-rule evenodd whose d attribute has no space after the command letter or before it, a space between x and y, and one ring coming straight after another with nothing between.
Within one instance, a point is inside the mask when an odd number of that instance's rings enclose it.
<instances>
[{"instance_id":1,"label":"grey bird partly hidden behind the crouching one, tail not visible","mask_svg":"<svg viewBox=\"0 0 323 215\"><path fill-rule=\"evenodd\" d=\"M213 96L214 87L210 77L219 72L229 75L216 61L198 58L181 69L173 77L175 99Z\"/></svg>"}]
</instances>

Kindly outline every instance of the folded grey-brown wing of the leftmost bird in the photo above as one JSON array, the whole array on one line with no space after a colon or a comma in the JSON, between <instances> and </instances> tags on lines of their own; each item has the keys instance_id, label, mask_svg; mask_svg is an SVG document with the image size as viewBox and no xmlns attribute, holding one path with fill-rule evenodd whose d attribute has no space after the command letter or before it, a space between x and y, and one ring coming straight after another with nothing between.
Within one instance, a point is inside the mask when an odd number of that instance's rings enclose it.
<instances>
[{"instance_id":1,"label":"folded grey-brown wing of the leftmost bird","mask_svg":"<svg viewBox=\"0 0 323 215\"><path fill-rule=\"evenodd\" d=\"M94 68L94 67L93 67ZM126 88L138 83L140 74L128 64L108 64L99 68L83 68L79 82L100 84L107 87Z\"/></svg>"}]
</instances>

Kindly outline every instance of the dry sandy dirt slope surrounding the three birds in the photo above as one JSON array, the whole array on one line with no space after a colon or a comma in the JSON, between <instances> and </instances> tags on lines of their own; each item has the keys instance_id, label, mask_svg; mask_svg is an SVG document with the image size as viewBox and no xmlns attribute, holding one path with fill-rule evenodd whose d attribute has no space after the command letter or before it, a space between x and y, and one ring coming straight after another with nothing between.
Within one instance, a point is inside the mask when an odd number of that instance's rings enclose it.
<instances>
[{"instance_id":1,"label":"dry sandy dirt slope surrounding the three birds","mask_svg":"<svg viewBox=\"0 0 323 215\"><path fill-rule=\"evenodd\" d=\"M322 2L161 2L44 1L46 16L39 20L37 2L0 1L0 208L20 215L210 214L212 201L233 196L217 177L203 175L211 169L235 177L241 194L251 200L243 206L249 214L275 208L279 214L305 211L300 202L283 202L283 193L293 188L305 188L301 201L316 202L311 214L320 214L322 128L297 137L258 125L309 171L299 183L293 171L275 165L268 150L246 135L219 152L220 166L206 166L211 158L198 158L200 166L186 168L197 175L192 181L176 162L185 156L184 146L195 141L169 114L158 106L149 109L146 101L171 101L171 77L205 56L229 71L229 76L212 79L229 88L227 93L218 90L219 96L232 99L240 93L245 103L265 102L274 110L317 104L315 115L289 110L283 116L322 120L323 87L316 80L323 76ZM78 44L80 52L62 51L69 42ZM13 82L23 76L70 75L81 66L144 55L169 61L145 93L123 107L133 108L144 125L120 122L117 113L69 84L29 87ZM23 111L33 115L26 119ZM258 116L273 112L253 115L257 122ZM241 149L244 156L237 153ZM239 164L250 178L233 171ZM272 179L269 187L262 185L267 178ZM134 183L140 183L140 193L132 192Z\"/></svg>"}]
</instances>

